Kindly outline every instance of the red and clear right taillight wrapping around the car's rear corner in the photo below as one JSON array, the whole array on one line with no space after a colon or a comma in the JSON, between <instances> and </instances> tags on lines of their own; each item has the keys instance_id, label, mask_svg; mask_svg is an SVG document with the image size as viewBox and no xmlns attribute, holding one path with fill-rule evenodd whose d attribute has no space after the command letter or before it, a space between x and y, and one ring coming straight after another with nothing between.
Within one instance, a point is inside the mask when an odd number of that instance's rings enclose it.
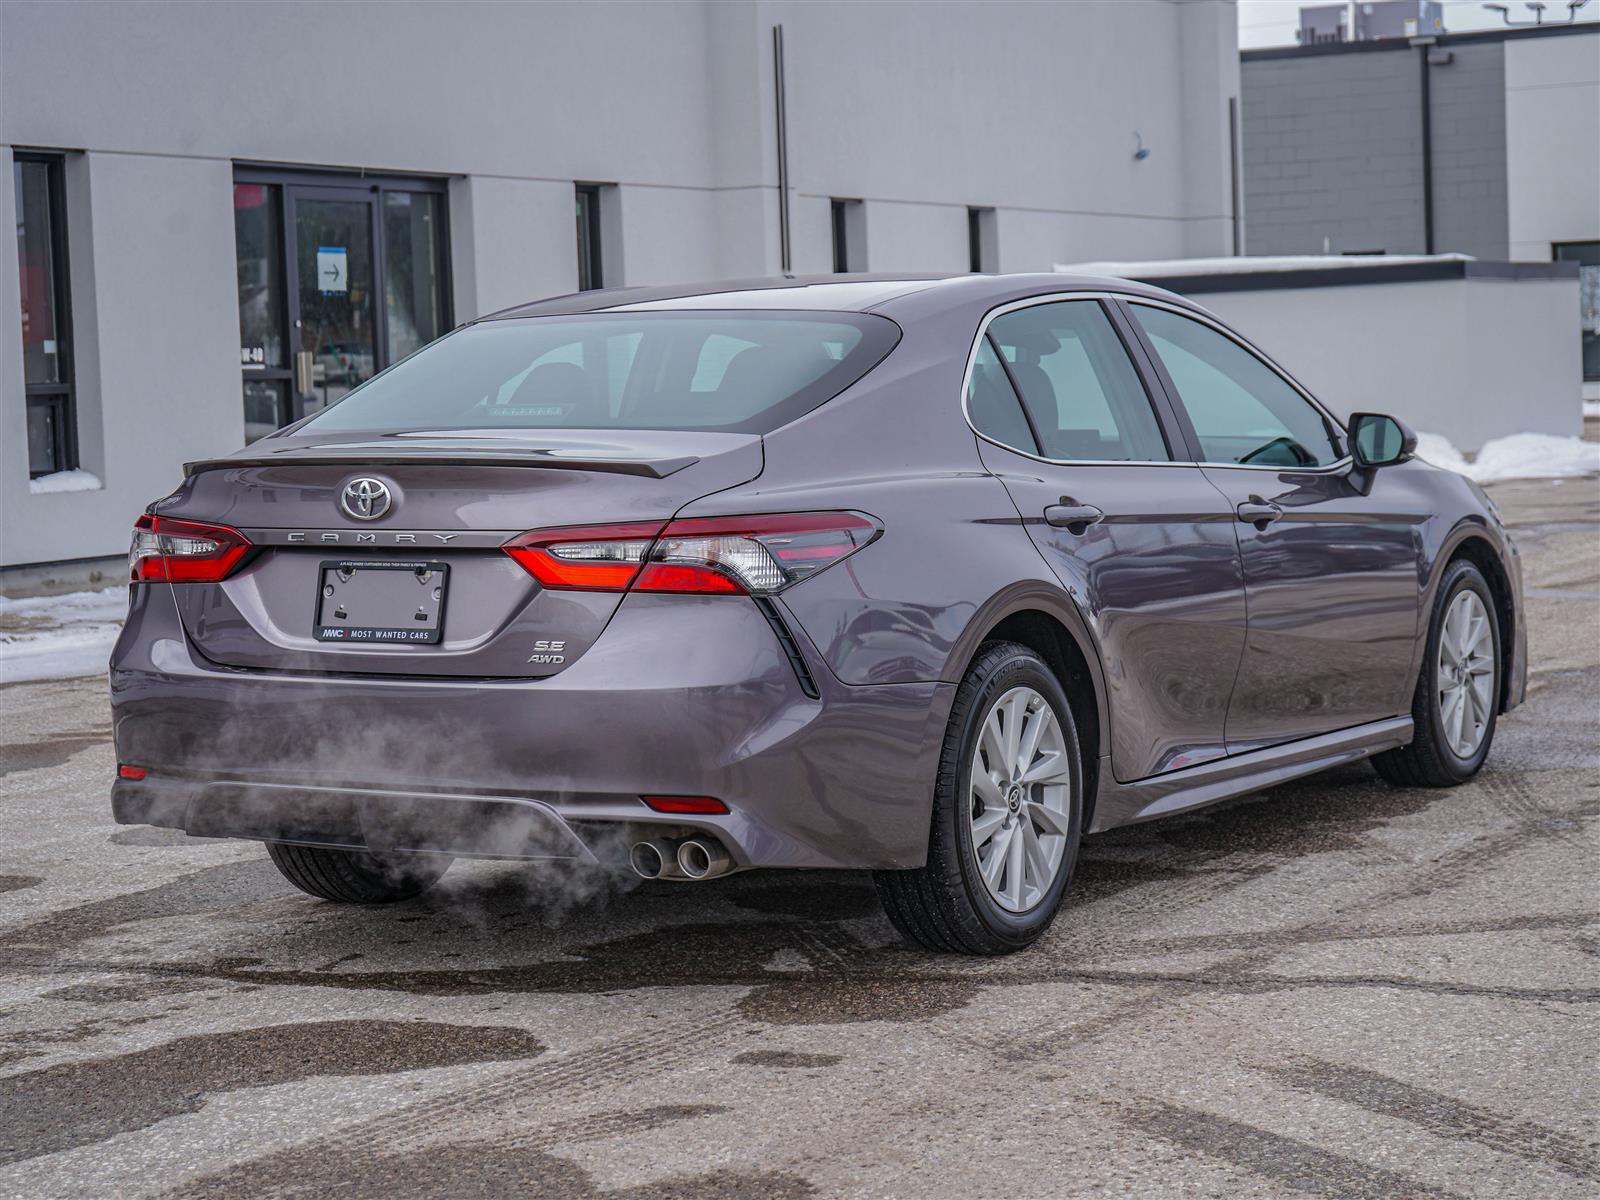
<instances>
[{"instance_id":1,"label":"red and clear right taillight wrapping around the car's rear corner","mask_svg":"<svg viewBox=\"0 0 1600 1200\"><path fill-rule=\"evenodd\" d=\"M877 536L856 512L773 512L534 530L504 549L546 587L773 595Z\"/></svg>"}]
</instances>

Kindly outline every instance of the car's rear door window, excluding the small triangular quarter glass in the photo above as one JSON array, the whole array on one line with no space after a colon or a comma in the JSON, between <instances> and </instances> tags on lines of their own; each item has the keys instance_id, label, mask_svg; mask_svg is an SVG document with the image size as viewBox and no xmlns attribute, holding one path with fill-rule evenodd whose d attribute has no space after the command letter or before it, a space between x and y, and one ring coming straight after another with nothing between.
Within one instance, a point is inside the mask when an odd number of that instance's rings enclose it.
<instances>
[{"instance_id":1,"label":"car's rear door window, excluding the small triangular quarter glass","mask_svg":"<svg viewBox=\"0 0 1600 1200\"><path fill-rule=\"evenodd\" d=\"M1006 358L1045 458L1166 462L1150 397L1098 301L1035 304L997 317Z\"/></svg>"}]
</instances>

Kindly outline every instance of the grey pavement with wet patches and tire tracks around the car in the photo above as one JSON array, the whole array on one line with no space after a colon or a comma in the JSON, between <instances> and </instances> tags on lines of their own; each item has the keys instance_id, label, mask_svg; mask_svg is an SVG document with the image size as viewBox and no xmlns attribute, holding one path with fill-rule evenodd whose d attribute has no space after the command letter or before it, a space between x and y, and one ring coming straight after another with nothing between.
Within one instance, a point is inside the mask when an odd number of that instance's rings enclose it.
<instances>
[{"instance_id":1,"label":"grey pavement with wet patches and tire tracks around the car","mask_svg":"<svg viewBox=\"0 0 1600 1200\"><path fill-rule=\"evenodd\" d=\"M843 872L323 904L114 826L101 682L0 686L0 1195L1595 1195L1600 485L1493 494L1533 677L1475 782L1090 838L995 962Z\"/></svg>"}]
</instances>

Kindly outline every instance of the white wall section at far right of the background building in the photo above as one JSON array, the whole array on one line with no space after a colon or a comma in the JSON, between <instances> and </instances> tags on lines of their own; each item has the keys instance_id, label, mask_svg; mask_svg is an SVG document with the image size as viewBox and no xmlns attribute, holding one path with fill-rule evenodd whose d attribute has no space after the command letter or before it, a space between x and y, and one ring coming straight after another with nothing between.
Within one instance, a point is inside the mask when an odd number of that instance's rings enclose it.
<instances>
[{"instance_id":1,"label":"white wall section at far right of the background building","mask_svg":"<svg viewBox=\"0 0 1600 1200\"><path fill-rule=\"evenodd\" d=\"M1600 240L1600 35L1506 43L1510 256Z\"/></svg>"}]
</instances>

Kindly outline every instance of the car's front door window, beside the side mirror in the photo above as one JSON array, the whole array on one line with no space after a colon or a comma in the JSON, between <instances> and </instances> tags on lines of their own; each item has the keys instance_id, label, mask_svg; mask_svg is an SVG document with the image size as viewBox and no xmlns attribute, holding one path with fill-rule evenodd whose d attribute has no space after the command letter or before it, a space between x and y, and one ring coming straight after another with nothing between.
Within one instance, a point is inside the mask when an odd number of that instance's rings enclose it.
<instances>
[{"instance_id":1,"label":"car's front door window, beside the side mirror","mask_svg":"<svg viewBox=\"0 0 1600 1200\"><path fill-rule=\"evenodd\" d=\"M1170 309L1131 309L1178 389L1206 462L1325 467L1339 461L1328 421L1261 358Z\"/></svg>"}]
</instances>

